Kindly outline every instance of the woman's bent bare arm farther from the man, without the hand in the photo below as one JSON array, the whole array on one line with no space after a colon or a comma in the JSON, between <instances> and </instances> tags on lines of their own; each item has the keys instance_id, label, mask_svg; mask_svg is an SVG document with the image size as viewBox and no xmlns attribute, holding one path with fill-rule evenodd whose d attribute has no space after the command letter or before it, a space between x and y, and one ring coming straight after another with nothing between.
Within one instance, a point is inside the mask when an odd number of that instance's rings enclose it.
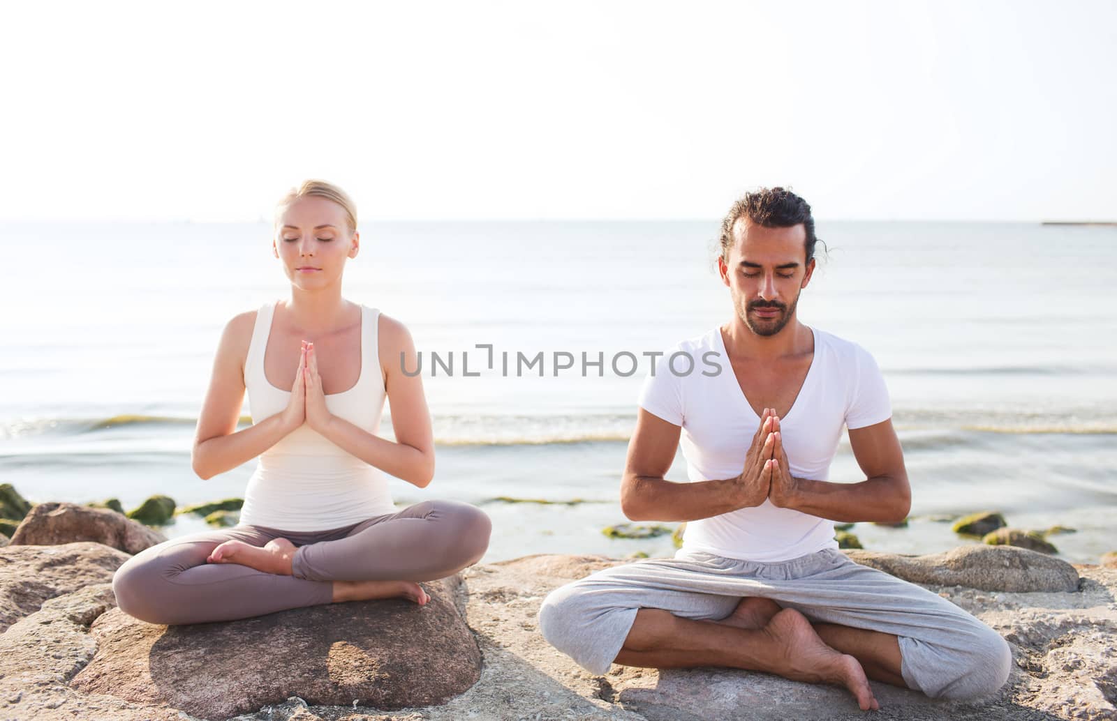
<instances>
[{"instance_id":1,"label":"woman's bent bare arm farther from the man, without the hand","mask_svg":"<svg viewBox=\"0 0 1117 721\"><path fill-rule=\"evenodd\" d=\"M237 431L245 400L244 358L248 354L255 323L254 311L242 313L226 324L221 334L209 391L198 414L194 444L190 451L190 464L202 480L252 460L293 430L288 427L284 414L277 413Z\"/></svg>"}]
</instances>

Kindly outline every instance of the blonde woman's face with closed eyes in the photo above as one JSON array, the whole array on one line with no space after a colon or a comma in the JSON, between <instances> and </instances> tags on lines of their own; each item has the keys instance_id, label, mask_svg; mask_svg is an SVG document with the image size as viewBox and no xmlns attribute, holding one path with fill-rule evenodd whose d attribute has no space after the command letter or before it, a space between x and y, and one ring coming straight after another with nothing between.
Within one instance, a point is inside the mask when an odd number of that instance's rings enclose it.
<instances>
[{"instance_id":1,"label":"blonde woman's face with closed eyes","mask_svg":"<svg viewBox=\"0 0 1117 721\"><path fill-rule=\"evenodd\" d=\"M341 278L345 259L356 256L357 235L341 205L306 195L281 209L271 244L287 278L309 289Z\"/></svg>"}]
</instances>

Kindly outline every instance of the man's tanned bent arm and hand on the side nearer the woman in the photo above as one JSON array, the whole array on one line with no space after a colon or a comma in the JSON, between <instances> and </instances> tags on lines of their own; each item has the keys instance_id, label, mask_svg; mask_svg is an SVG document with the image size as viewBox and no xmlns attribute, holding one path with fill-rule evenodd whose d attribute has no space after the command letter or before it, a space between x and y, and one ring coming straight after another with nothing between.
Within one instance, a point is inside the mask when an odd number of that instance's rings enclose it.
<instances>
[{"instance_id":1,"label":"man's tanned bent arm and hand on the side nearer the woman","mask_svg":"<svg viewBox=\"0 0 1117 721\"><path fill-rule=\"evenodd\" d=\"M772 420L767 413L761 423L741 475L676 483L663 477L675 460L681 429L640 408L621 479L624 516L633 521L694 521L763 503L772 477L764 462L772 456L774 439L770 438Z\"/></svg>"}]
</instances>

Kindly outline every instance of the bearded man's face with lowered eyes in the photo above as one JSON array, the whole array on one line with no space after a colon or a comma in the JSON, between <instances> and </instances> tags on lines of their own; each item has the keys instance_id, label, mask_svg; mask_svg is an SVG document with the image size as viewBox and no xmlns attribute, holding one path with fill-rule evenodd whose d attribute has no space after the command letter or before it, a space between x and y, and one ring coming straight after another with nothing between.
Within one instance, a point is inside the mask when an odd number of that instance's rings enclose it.
<instances>
[{"instance_id":1,"label":"bearded man's face with lowered eyes","mask_svg":"<svg viewBox=\"0 0 1117 721\"><path fill-rule=\"evenodd\" d=\"M741 218L733 225L728 260L717 259L737 316L754 334L774 336L795 317L800 291L814 272L804 267L806 229L764 228Z\"/></svg>"}]
</instances>

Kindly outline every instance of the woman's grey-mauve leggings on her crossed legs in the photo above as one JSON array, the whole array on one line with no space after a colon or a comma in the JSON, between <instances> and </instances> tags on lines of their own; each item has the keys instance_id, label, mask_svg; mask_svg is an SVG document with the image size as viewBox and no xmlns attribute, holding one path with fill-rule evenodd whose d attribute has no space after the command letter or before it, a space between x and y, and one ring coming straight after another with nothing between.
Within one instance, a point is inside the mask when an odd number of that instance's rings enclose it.
<instances>
[{"instance_id":1,"label":"woman's grey-mauve leggings on her crossed legs","mask_svg":"<svg viewBox=\"0 0 1117 721\"><path fill-rule=\"evenodd\" d=\"M156 624L232 621L328 604L334 580L435 580L476 564L488 548L488 516L468 503L422 501L397 513L324 531L237 526L152 546L113 576L121 611ZM297 549L290 576L237 564L207 564L227 540Z\"/></svg>"}]
</instances>

